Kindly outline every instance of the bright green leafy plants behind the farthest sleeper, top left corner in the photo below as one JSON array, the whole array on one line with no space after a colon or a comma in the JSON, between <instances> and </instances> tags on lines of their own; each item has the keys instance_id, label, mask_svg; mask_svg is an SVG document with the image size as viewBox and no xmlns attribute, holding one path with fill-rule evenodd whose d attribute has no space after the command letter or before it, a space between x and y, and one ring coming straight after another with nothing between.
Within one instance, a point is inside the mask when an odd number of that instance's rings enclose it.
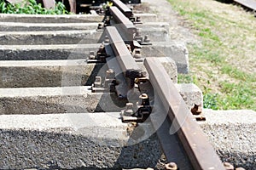
<instances>
[{"instance_id":1,"label":"bright green leafy plants behind the farthest sleeper, top left corner","mask_svg":"<svg viewBox=\"0 0 256 170\"><path fill-rule=\"evenodd\" d=\"M43 8L36 0L24 0L23 3L5 3L0 0L0 13L3 14L68 14L65 5L61 2L55 8Z\"/></svg>"}]
</instances>

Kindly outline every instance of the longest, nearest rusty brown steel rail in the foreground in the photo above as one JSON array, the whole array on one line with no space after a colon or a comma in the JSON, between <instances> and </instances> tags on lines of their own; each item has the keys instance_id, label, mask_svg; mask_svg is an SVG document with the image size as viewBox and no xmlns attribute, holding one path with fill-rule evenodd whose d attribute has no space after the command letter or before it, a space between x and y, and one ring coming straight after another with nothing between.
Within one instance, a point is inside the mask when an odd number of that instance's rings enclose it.
<instances>
[{"instance_id":1,"label":"longest, nearest rusty brown steel rail in the foreground","mask_svg":"<svg viewBox=\"0 0 256 170\"><path fill-rule=\"evenodd\" d=\"M162 105L172 122L171 128L177 132L192 166L195 169L224 170L224 165L195 122L160 62L154 58L147 58L144 65L148 71L149 81L153 85L154 91L160 96Z\"/></svg>"}]
</instances>

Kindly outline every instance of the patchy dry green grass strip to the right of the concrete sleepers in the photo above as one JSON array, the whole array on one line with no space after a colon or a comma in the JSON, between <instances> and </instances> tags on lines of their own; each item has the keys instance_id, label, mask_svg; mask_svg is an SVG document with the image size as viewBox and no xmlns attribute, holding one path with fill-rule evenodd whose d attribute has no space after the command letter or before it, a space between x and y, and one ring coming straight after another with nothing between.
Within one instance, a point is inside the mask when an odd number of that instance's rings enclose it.
<instances>
[{"instance_id":1,"label":"patchy dry green grass strip to the right of the concrete sleepers","mask_svg":"<svg viewBox=\"0 0 256 170\"><path fill-rule=\"evenodd\" d=\"M232 4L213 0L204 2L213 7L196 0L169 2L201 41L188 44L191 72L179 75L178 82L199 86L205 108L256 111L255 18Z\"/></svg>"}]
</instances>

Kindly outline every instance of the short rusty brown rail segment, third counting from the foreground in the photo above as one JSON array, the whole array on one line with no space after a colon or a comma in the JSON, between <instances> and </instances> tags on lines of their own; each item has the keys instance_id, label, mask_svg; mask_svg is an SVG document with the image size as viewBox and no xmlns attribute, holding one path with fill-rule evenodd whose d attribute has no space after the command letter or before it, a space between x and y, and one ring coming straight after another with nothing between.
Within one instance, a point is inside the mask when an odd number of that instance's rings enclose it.
<instances>
[{"instance_id":1,"label":"short rusty brown rail segment, third counting from the foreground","mask_svg":"<svg viewBox=\"0 0 256 170\"><path fill-rule=\"evenodd\" d=\"M137 31L137 28L134 26L131 20L125 17L125 14L123 14L117 7L110 7L109 11L112 14L113 20L115 20L116 24L121 27L125 33L129 33L130 36L133 36L133 34Z\"/></svg>"}]
</instances>

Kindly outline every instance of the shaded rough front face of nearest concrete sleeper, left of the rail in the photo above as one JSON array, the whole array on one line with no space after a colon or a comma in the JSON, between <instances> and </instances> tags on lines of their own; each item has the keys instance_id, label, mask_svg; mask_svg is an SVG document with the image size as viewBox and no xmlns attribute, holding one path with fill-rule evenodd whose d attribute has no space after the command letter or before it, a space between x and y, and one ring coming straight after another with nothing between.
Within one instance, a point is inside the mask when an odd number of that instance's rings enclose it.
<instances>
[{"instance_id":1,"label":"shaded rough front face of nearest concrete sleeper, left of the rail","mask_svg":"<svg viewBox=\"0 0 256 170\"><path fill-rule=\"evenodd\" d=\"M161 155L155 135L125 147L63 131L0 129L0 139L3 169L147 168L155 167ZM114 143L112 139L106 140Z\"/></svg>"}]
</instances>

